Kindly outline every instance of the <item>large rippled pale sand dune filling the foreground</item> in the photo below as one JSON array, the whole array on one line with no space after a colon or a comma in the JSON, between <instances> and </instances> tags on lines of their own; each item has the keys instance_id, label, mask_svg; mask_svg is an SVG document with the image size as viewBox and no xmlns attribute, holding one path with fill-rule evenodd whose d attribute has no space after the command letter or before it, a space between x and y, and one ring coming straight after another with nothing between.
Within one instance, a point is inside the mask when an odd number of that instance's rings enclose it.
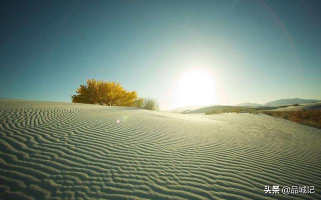
<instances>
[{"instance_id":1,"label":"large rippled pale sand dune filling the foreground","mask_svg":"<svg viewBox=\"0 0 321 200\"><path fill-rule=\"evenodd\" d=\"M321 129L174 115L0 99L0 199L321 199ZM273 184L316 193L264 194Z\"/></svg>"}]
</instances>

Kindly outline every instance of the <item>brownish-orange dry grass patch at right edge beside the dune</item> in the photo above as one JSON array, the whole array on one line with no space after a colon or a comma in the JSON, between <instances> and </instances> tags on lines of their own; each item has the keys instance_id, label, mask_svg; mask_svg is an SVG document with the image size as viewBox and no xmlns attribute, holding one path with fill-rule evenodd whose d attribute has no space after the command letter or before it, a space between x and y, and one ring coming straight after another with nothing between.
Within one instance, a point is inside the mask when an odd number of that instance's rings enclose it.
<instances>
[{"instance_id":1,"label":"brownish-orange dry grass patch at right edge beside the dune","mask_svg":"<svg viewBox=\"0 0 321 200\"><path fill-rule=\"evenodd\" d=\"M263 114L281 117L290 121L301 123L304 125L321 128L321 109L310 110L292 110L292 111L271 111L263 110Z\"/></svg>"}]
</instances>

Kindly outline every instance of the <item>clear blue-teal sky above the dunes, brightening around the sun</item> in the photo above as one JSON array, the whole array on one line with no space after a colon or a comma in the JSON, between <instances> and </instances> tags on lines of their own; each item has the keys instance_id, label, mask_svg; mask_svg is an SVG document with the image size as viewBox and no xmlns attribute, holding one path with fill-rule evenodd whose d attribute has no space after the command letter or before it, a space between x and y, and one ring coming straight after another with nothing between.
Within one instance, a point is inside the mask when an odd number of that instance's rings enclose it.
<instances>
[{"instance_id":1,"label":"clear blue-teal sky above the dunes, brightening around the sun","mask_svg":"<svg viewBox=\"0 0 321 200\"><path fill-rule=\"evenodd\" d=\"M178 102L182 81L206 104L321 99L321 1L2 2L0 97L71 102L86 78L163 109L198 103Z\"/></svg>"}]
</instances>

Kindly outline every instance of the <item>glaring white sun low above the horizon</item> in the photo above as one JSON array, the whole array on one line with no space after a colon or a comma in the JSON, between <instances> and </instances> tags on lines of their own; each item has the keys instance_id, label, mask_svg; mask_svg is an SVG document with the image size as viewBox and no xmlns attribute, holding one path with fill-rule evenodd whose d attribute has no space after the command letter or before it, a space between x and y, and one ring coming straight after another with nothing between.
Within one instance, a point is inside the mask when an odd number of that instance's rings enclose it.
<instances>
[{"instance_id":1,"label":"glaring white sun low above the horizon","mask_svg":"<svg viewBox=\"0 0 321 200\"><path fill-rule=\"evenodd\" d=\"M211 73L192 69L184 72L178 84L178 106L214 104L216 85Z\"/></svg>"}]
</instances>

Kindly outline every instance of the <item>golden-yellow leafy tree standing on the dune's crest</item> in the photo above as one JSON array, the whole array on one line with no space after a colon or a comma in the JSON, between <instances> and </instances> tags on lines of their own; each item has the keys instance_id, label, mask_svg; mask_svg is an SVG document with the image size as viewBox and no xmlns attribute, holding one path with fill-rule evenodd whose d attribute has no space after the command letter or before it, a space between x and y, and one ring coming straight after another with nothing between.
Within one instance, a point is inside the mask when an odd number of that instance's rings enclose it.
<instances>
[{"instance_id":1,"label":"golden-yellow leafy tree standing on the dune's crest","mask_svg":"<svg viewBox=\"0 0 321 200\"><path fill-rule=\"evenodd\" d=\"M71 96L75 103L133 106L138 99L136 91L127 91L119 82L96 79L87 79L86 84L80 85L76 93Z\"/></svg>"}]
</instances>

